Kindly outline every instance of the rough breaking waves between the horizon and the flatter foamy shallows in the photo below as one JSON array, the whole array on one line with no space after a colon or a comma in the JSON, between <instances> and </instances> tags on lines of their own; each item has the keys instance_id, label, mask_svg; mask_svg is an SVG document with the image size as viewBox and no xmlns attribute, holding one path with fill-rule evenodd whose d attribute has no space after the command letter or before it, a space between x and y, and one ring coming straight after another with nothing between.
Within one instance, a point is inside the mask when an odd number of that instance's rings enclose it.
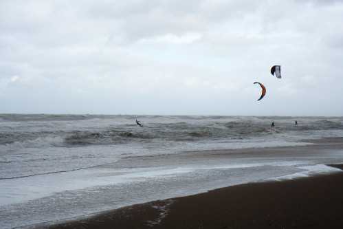
<instances>
[{"instance_id":1,"label":"rough breaking waves between the horizon and the flatter foamy shallows","mask_svg":"<svg viewBox=\"0 0 343 229\"><path fill-rule=\"evenodd\" d=\"M342 135L341 117L0 115L0 152L137 142L291 141ZM137 127L134 120L143 121ZM294 126L298 120L298 126ZM271 129L270 124L276 123ZM337 132L337 133L336 133ZM272 137L272 138L271 138ZM157 148L159 144L156 144Z\"/></svg>"}]
</instances>

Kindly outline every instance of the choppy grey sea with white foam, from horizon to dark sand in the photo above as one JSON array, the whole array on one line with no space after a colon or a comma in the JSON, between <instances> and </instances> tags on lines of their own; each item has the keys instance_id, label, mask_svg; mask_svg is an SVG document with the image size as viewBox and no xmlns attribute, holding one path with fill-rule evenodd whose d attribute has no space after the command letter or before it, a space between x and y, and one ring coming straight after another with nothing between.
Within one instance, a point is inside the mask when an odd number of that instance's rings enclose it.
<instances>
[{"instance_id":1,"label":"choppy grey sea with white foam, from horizon to dark sand","mask_svg":"<svg viewBox=\"0 0 343 229\"><path fill-rule=\"evenodd\" d=\"M343 117L0 114L0 228L330 173L338 168L325 164L343 163L343 149L259 154L342 137Z\"/></svg>"}]
</instances>

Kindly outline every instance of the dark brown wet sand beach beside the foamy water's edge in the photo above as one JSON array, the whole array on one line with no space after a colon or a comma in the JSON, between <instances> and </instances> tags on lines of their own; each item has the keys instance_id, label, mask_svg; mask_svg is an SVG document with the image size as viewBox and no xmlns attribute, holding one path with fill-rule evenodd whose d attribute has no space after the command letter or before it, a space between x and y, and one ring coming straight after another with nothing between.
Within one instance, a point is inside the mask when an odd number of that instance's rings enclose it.
<instances>
[{"instance_id":1,"label":"dark brown wet sand beach beside the foamy water's edge","mask_svg":"<svg viewBox=\"0 0 343 229\"><path fill-rule=\"evenodd\" d=\"M230 186L49 228L343 228L343 172Z\"/></svg>"}]
</instances>

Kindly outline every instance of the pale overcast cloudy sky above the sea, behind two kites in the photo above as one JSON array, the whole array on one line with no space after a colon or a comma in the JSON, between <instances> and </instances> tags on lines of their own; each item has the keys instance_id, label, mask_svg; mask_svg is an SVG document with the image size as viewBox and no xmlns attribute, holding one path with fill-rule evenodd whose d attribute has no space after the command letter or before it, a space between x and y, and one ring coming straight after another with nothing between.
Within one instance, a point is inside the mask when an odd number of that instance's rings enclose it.
<instances>
[{"instance_id":1,"label":"pale overcast cloudy sky above the sea, behind two kites","mask_svg":"<svg viewBox=\"0 0 343 229\"><path fill-rule=\"evenodd\" d=\"M0 0L0 113L343 116L342 22L331 0Z\"/></svg>"}]
</instances>

